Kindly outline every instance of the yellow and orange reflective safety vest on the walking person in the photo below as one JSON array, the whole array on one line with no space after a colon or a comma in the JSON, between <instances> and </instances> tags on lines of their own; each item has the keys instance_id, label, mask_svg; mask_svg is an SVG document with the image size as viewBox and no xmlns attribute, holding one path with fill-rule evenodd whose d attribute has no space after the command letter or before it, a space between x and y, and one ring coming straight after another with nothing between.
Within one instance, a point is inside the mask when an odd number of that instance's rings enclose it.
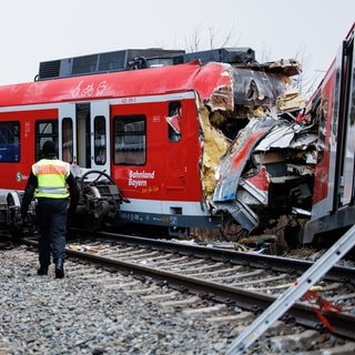
<instances>
[{"instance_id":1,"label":"yellow and orange reflective safety vest on the walking person","mask_svg":"<svg viewBox=\"0 0 355 355\"><path fill-rule=\"evenodd\" d=\"M34 197L65 199L69 196L65 182L70 174L69 163L42 159L32 165L32 172L38 179Z\"/></svg>"}]
</instances>

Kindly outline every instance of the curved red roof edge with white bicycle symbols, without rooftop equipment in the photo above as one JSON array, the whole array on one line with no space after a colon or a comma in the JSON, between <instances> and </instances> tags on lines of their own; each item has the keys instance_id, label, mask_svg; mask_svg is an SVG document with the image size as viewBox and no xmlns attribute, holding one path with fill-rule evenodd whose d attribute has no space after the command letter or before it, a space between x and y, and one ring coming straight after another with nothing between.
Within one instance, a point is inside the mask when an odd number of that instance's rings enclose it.
<instances>
[{"instance_id":1,"label":"curved red roof edge with white bicycle symbols, without rooftop equipment","mask_svg":"<svg viewBox=\"0 0 355 355\"><path fill-rule=\"evenodd\" d=\"M36 103L155 95L196 90L202 100L221 87L231 88L231 67L199 61L162 68L43 80L0 87L0 108ZM204 75L207 72L207 75Z\"/></svg>"}]
</instances>

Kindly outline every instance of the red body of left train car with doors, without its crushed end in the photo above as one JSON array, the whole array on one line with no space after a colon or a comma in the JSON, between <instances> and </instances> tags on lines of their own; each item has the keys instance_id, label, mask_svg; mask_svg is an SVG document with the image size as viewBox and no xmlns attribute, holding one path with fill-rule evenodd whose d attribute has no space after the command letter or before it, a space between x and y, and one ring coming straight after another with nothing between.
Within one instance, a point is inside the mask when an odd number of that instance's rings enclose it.
<instances>
[{"instance_id":1,"label":"red body of left train car with doors, without its crushed end","mask_svg":"<svg viewBox=\"0 0 355 355\"><path fill-rule=\"evenodd\" d=\"M209 75L199 82L204 70ZM77 165L78 174L80 166L112 176L130 200L122 219L178 225L164 215L179 215L185 226L210 219L202 207L194 90L201 88L206 100L216 88L231 87L224 71L221 63L193 62L0 88L0 124L11 126L18 146L12 159L0 158L7 171L1 187L23 190L41 144L53 139L59 158Z\"/></svg>"}]
</instances>

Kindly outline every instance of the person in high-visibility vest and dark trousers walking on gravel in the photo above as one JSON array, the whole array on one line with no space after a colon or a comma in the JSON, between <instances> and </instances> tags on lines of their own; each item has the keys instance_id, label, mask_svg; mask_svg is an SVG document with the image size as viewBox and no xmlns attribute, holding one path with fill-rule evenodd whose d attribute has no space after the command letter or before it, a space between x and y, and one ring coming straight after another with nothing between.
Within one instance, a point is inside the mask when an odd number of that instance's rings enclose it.
<instances>
[{"instance_id":1,"label":"person in high-visibility vest and dark trousers walking on gravel","mask_svg":"<svg viewBox=\"0 0 355 355\"><path fill-rule=\"evenodd\" d=\"M26 219L33 196L37 199L36 217L39 232L39 275L47 275L51 254L55 277L64 277L67 215L74 212L79 201L79 187L70 171L70 164L55 158L55 145L45 141L43 159L32 165L24 190L21 215ZM69 209L68 209L69 207Z\"/></svg>"}]
</instances>

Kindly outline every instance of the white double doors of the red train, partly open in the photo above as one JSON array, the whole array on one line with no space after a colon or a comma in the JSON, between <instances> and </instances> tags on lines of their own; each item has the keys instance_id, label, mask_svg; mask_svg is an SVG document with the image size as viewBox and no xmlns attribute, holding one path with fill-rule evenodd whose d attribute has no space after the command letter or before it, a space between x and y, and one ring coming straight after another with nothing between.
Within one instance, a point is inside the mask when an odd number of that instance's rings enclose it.
<instances>
[{"instance_id":1,"label":"white double doors of the red train, partly open","mask_svg":"<svg viewBox=\"0 0 355 355\"><path fill-rule=\"evenodd\" d=\"M59 158L110 174L109 103L67 103L59 108Z\"/></svg>"}]
</instances>

